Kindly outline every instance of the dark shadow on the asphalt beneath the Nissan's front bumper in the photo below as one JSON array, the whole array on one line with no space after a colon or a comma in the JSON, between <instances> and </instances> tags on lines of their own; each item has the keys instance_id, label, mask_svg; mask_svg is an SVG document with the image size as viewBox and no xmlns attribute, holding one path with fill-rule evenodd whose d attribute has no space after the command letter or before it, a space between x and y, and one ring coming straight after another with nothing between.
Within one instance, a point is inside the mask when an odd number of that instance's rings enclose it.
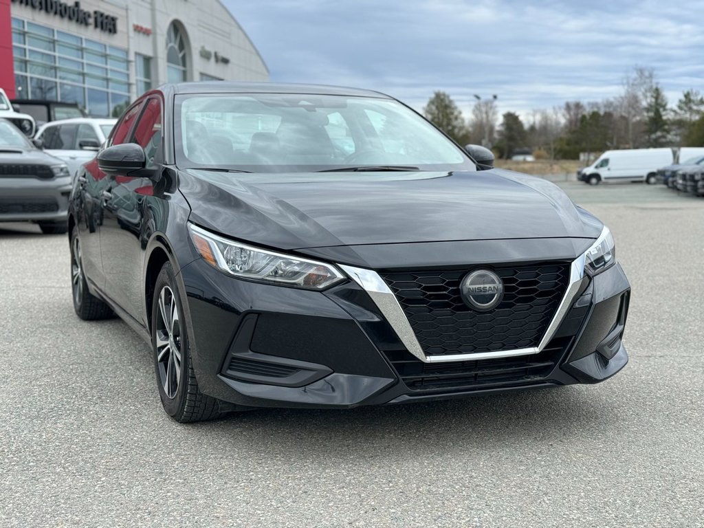
<instances>
[{"instance_id":1,"label":"dark shadow on the asphalt beneath the Nissan's front bumper","mask_svg":"<svg viewBox=\"0 0 704 528\"><path fill-rule=\"evenodd\" d=\"M350 410L259 409L198 424L196 436L220 447L225 439L253 454L345 460L399 452L491 451L526 441L567 446L580 432L601 430L615 419L618 413L608 403L605 394L589 387L568 386Z\"/></svg>"}]
</instances>

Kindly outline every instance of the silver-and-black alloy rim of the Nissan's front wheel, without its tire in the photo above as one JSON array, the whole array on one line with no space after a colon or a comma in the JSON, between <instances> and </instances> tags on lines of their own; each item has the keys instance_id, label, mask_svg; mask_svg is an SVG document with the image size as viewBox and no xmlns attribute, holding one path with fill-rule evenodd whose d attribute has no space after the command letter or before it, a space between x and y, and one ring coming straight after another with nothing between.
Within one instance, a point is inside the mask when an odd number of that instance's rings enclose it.
<instances>
[{"instance_id":1,"label":"silver-and-black alloy rim of the Nissan's front wheel, without its tire","mask_svg":"<svg viewBox=\"0 0 704 528\"><path fill-rule=\"evenodd\" d=\"M156 314L156 362L164 394L176 397L181 382L181 324L176 297L170 287L159 292Z\"/></svg>"}]
</instances>

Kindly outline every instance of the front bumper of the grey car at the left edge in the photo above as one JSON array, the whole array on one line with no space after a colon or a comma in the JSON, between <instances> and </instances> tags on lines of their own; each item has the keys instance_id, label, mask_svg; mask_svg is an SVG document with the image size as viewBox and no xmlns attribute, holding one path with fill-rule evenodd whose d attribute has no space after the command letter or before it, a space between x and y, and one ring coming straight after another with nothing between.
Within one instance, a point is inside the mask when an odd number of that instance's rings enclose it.
<instances>
[{"instance_id":1,"label":"front bumper of the grey car at the left edge","mask_svg":"<svg viewBox=\"0 0 704 528\"><path fill-rule=\"evenodd\" d=\"M0 222L62 222L70 192L70 177L0 178Z\"/></svg>"}]
</instances>

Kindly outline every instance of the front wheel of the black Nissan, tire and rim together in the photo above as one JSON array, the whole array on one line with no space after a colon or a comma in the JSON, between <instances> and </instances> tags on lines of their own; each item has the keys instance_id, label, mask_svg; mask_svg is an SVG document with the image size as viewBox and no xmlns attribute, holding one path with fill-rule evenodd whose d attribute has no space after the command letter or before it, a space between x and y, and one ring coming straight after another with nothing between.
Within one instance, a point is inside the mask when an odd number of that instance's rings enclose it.
<instances>
[{"instance_id":1,"label":"front wheel of the black Nissan, tire and rim together","mask_svg":"<svg viewBox=\"0 0 704 528\"><path fill-rule=\"evenodd\" d=\"M151 303L151 345L159 397L166 413L177 422L213 420L225 413L220 411L217 398L198 388L183 314L173 268L167 262L156 277Z\"/></svg>"}]
</instances>

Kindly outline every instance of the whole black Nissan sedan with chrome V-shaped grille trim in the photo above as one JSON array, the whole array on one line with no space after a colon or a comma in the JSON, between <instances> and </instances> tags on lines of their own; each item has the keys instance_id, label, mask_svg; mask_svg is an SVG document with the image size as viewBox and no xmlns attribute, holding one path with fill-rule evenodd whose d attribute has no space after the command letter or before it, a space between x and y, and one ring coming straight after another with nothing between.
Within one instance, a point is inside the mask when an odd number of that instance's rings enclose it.
<instances>
[{"instance_id":1,"label":"whole black Nissan sedan with chrome V-shaped grille trim","mask_svg":"<svg viewBox=\"0 0 704 528\"><path fill-rule=\"evenodd\" d=\"M149 342L180 422L614 375L608 228L485 154L377 92L165 85L77 173L75 311Z\"/></svg>"}]
</instances>

